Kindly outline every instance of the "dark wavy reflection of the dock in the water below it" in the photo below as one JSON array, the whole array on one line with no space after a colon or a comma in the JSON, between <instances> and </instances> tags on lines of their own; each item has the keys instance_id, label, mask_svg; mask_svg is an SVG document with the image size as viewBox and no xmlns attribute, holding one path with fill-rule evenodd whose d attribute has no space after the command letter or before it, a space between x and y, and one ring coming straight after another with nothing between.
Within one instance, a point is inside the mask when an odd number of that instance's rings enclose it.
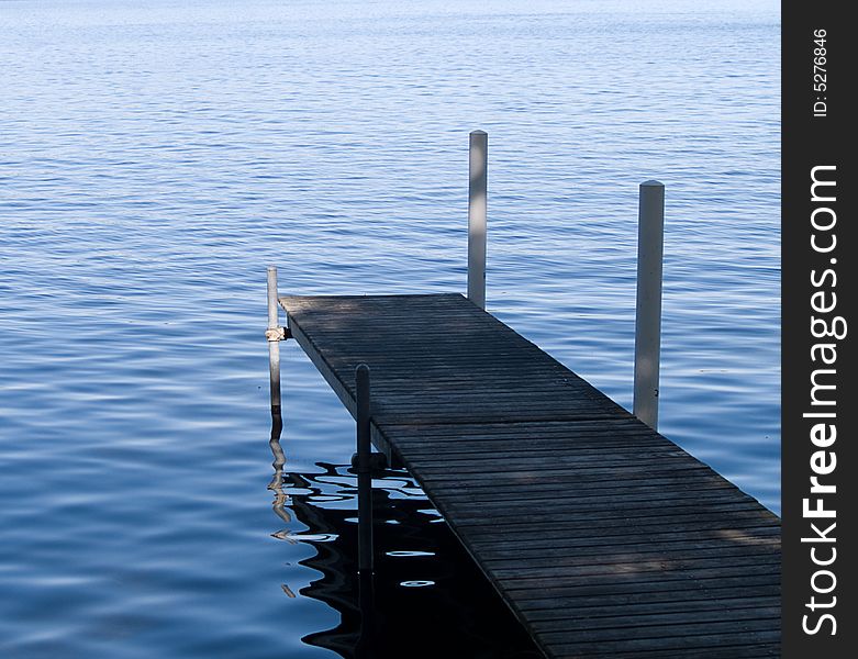
<instances>
[{"instance_id":1,"label":"dark wavy reflection of the dock in the water below it","mask_svg":"<svg viewBox=\"0 0 858 659\"><path fill-rule=\"evenodd\" d=\"M542 657L404 470L374 474L376 572L357 576L357 480L345 465L321 473L285 471L282 421L274 417L274 513L291 526L272 534L307 543L315 556L301 565L322 577L299 591L339 613L339 624L303 638L347 658L456 656ZM287 584L286 596L294 597Z\"/></svg>"}]
</instances>

